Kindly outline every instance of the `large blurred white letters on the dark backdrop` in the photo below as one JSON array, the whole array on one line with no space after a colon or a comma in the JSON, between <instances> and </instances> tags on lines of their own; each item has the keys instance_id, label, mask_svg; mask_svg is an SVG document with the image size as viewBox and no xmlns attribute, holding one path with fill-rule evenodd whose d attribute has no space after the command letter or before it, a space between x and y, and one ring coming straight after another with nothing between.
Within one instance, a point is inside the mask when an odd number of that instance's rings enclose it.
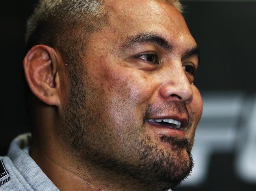
<instances>
[{"instance_id":1,"label":"large blurred white letters on the dark backdrop","mask_svg":"<svg viewBox=\"0 0 256 191\"><path fill-rule=\"evenodd\" d=\"M182 186L198 186L206 180L213 153L234 153L236 176L256 184L256 95L204 92L202 98L203 115L192 149L195 168Z\"/></svg>"}]
</instances>

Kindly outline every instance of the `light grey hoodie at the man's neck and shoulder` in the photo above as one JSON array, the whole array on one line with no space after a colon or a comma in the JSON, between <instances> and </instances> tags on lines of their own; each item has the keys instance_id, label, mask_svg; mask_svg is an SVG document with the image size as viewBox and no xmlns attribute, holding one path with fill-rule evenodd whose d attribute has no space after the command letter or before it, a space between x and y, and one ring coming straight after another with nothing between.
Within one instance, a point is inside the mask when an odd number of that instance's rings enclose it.
<instances>
[{"instance_id":1,"label":"light grey hoodie at the man's neck and shoulder","mask_svg":"<svg viewBox=\"0 0 256 191\"><path fill-rule=\"evenodd\" d=\"M30 139L30 133L18 136L0 156L0 191L59 191L30 157Z\"/></svg>"}]
</instances>

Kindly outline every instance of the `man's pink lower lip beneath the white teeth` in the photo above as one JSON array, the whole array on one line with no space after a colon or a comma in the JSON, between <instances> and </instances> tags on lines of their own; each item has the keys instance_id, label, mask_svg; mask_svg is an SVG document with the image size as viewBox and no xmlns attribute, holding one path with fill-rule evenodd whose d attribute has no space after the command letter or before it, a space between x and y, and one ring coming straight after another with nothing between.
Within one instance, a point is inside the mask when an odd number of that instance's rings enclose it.
<instances>
[{"instance_id":1,"label":"man's pink lower lip beneath the white teeth","mask_svg":"<svg viewBox=\"0 0 256 191\"><path fill-rule=\"evenodd\" d=\"M181 131L180 129L163 127L160 124L148 122L147 120L146 122L150 125L150 127L153 128L154 133L156 134L167 135L167 136L172 136L176 138L185 138L184 132Z\"/></svg>"}]
</instances>

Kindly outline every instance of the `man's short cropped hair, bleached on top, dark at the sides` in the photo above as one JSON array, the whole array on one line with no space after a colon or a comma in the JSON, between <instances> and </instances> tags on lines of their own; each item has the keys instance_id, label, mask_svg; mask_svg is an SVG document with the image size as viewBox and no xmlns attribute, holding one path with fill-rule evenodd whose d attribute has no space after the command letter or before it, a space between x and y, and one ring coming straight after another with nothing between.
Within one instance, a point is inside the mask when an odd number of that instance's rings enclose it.
<instances>
[{"instance_id":1,"label":"man's short cropped hair, bleached on top, dark at the sides","mask_svg":"<svg viewBox=\"0 0 256 191\"><path fill-rule=\"evenodd\" d=\"M39 0L27 22L26 51L37 44L57 48L66 61L79 56L89 34L106 23L100 0ZM71 60L70 60L71 59Z\"/></svg>"}]
</instances>

